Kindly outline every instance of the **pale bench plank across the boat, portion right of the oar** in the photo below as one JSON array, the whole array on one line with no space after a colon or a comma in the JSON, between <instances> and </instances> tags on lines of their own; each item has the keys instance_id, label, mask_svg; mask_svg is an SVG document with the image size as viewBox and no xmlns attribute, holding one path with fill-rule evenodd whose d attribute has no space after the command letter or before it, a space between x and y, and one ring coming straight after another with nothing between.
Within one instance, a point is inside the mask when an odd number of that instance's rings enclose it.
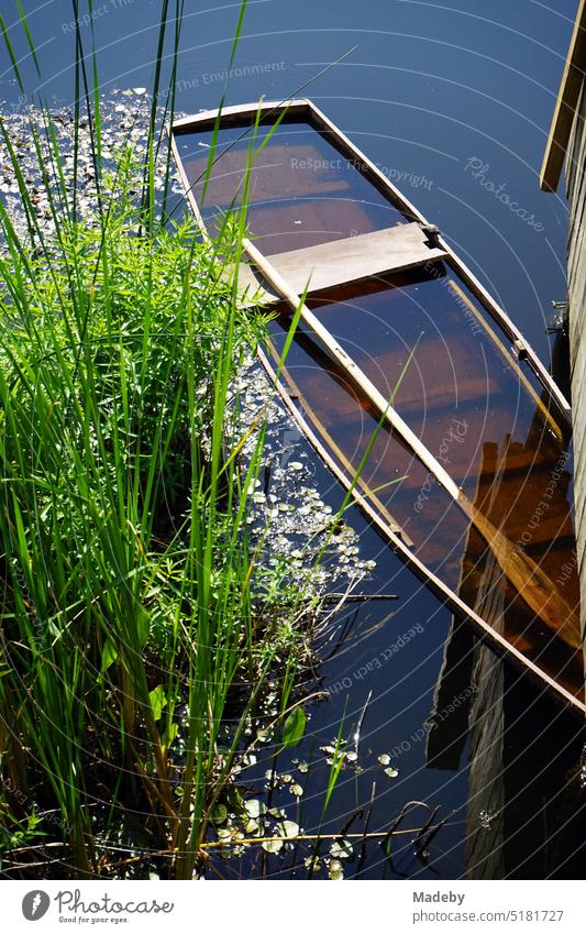
<instances>
[{"instance_id":1,"label":"pale bench plank across the boat, portion right of the oar","mask_svg":"<svg viewBox=\"0 0 586 934\"><path fill-rule=\"evenodd\" d=\"M362 233L288 253L275 253L270 264L289 287L302 294L443 260L444 250L429 246L418 223Z\"/></svg>"}]
</instances>

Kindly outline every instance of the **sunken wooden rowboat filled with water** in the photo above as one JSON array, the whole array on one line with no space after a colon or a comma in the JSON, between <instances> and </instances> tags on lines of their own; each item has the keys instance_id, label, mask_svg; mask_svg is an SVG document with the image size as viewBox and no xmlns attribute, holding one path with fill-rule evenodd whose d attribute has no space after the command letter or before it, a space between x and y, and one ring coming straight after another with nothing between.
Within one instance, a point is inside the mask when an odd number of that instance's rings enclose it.
<instances>
[{"instance_id":1,"label":"sunken wooden rowboat filled with water","mask_svg":"<svg viewBox=\"0 0 586 934\"><path fill-rule=\"evenodd\" d=\"M259 356L292 418L409 567L584 714L571 410L531 347L310 100L172 136L204 237L246 201L240 287L270 305Z\"/></svg>"}]
</instances>

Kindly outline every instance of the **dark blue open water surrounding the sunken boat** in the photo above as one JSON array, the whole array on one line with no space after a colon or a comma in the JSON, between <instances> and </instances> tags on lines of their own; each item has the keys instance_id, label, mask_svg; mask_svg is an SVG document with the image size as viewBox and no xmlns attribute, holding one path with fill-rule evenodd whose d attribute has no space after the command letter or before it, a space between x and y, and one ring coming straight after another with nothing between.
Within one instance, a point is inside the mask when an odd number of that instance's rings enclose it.
<instances>
[{"instance_id":1,"label":"dark blue open water surrounding the sunken boat","mask_svg":"<svg viewBox=\"0 0 586 934\"><path fill-rule=\"evenodd\" d=\"M42 84L20 31L13 29L15 3L5 0L2 13L24 83L55 106L68 105L71 4L23 0L23 6L42 46ZM161 4L96 0L93 6L104 94L148 87ZM295 92L311 96L440 226L549 363L551 303L565 297L566 205L562 186L557 195L543 195L538 179L576 7L577 0L494 0L489 6L480 0L445 6L253 0L226 102L262 95L276 100ZM217 106L237 11L237 3L215 0L186 3L181 111ZM89 48L89 25L84 35ZM312 80L354 46L349 58ZM0 58L0 98L9 110L26 102L5 55ZM505 204L505 195L512 204ZM319 464L317 471L335 506L340 492ZM346 867L347 876L575 877L581 872L578 728L526 679L519 682L507 664L475 645L467 631L452 636L444 661L450 613L357 512L350 518L362 532L364 556L377 561L368 587L395 592L399 600L349 611L336 624L342 633L347 623L341 645L330 639L331 630L322 640L324 661L318 674L329 699L312 705L310 735L294 754L310 762L307 787L299 809L287 788L276 794L279 804L307 832L316 828L328 773L319 747L335 739L342 719L343 735L352 740L367 704L358 758L363 771L341 772L325 829L339 831L371 798L371 831L388 827L412 799L440 806L440 818L454 813L431 843L429 856L418 857L409 836L398 838L402 842L395 844L392 861L373 844L362 865L355 858ZM484 710L478 692L471 694L478 685ZM443 724L434 734L444 744L435 758L423 727L434 705L435 721ZM383 754L392 755L396 778L379 765ZM263 789L269 765L267 758L246 776L252 790ZM305 783L295 768L290 760L277 765L279 772L290 770ZM480 820L484 811L496 816ZM425 820L419 807L406 825ZM358 821L356 829L363 826ZM307 875L302 865L290 867L290 858L247 856L234 872Z\"/></svg>"}]
</instances>

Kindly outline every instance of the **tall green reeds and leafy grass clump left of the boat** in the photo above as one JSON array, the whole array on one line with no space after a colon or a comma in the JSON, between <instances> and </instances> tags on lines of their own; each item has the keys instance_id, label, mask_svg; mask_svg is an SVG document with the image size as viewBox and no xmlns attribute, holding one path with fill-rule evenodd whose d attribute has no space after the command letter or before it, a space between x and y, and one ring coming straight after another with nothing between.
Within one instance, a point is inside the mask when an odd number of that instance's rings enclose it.
<instances>
[{"instance_id":1,"label":"tall green reeds and leafy grass clump left of the boat","mask_svg":"<svg viewBox=\"0 0 586 934\"><path fill-rule=\"evenodd\" d=\"M52 235L0 128L27 228L0 206L0 846L46 836L62 844L57 875L110 872L104 846L130 836L165 854L168 875L194 876L283 655L289 697L308 603L246 535L265 428L259 417L244 459L229 397L265 321L239 309L228 274L245 219L210 246L166 217L172 6L146 152L104 169L98 66L88 76L79 31L73 168L48 110L31 117ZM84 218L82 112L96 169Z\"/></svg>"}]
</instances>

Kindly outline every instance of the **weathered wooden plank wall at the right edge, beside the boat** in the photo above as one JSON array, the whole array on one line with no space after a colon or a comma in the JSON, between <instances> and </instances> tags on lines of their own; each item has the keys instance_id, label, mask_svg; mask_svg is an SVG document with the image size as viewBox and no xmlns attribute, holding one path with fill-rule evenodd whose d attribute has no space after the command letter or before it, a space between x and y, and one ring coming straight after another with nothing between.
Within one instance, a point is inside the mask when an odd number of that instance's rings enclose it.
<instances>
[{"instance_id":1,"label":"weathered wooden plank wall at the right edge, beside the boat","mask_svg":"<svg viewBox=\"0 0 586 934\"><path fill-rule=\"evenodd\" d=\"M575 448L577 560L582 631L586 629L586 81L568 141L565 174L570 204L567 240L568 323ZM586 645L585 645L586 655Z\"/></svg>"}]
</instances>

